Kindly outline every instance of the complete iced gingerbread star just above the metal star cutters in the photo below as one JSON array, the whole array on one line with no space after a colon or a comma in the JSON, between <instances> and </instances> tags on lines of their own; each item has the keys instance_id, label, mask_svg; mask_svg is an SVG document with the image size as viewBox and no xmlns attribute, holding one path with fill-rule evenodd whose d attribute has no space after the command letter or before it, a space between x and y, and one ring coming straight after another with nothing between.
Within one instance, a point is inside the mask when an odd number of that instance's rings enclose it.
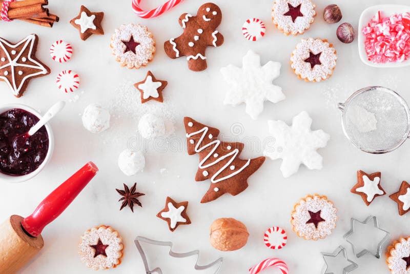
<instances>
[{"instance_id":1,"label":"complete iced gingerbread star just above the metal star cutters","mask_svg":"<svg viewBox=\"0 0 410 274\"><path fill-rule=\"evenodd\" d=\"M381 172L367 174L362 170L357 171L357 184L350 192L358 194L362 197L363 202L368 206L373 200L386 194L380 185Z\"/></svg>"}]
</instances>

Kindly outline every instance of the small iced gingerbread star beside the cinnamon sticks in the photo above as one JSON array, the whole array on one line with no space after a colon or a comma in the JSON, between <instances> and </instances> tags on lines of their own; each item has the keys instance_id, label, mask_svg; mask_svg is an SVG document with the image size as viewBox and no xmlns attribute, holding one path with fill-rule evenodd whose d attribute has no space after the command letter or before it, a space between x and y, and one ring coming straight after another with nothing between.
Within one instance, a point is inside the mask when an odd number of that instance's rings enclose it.
<instances>
[{"instance_id":1,"label":"small iced gingerbread star beside the cinnamon sticks","mask_svg":"<svg viewBox=\"0 0 410 274\"><path fill-rule=\"evenodd\" d=\"M81 39L86 41L91 34L104 34L101 27L103 17L104 12L91 12L85 6L81 6L80 13L71 19L70 24L78 29Z\"/></svg>"}]
</instances>

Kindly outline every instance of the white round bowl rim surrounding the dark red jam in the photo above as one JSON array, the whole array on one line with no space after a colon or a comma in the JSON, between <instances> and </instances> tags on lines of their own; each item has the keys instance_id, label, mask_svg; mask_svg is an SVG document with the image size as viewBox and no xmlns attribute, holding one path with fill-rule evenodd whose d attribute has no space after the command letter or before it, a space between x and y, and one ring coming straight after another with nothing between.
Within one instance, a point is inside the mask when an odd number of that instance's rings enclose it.
<instances>
[{"instance_id":1,"label":"white round bowl rim surrounding the dark red jam","mask_svg":"<svg viewBox=\"0 0 410 274\"><path fill-rule=\"evenodd\" d=\"M38 113L38 111L36 111L35 109L26 106L26 105L22 105L22 104L8 104L8 105L3 105L0 106L0 113L6 112L9 109L12 108L20 108L20 109L24 109L30 113L33 113L34 115L36 115L38 117L38 119L42 118L42 115L40 115L40 113ZM51 155L53 154L53 150L54 150L54 135L53 135L53 131L51 130L51 127L49 124L45 125L47 133L48 133L48 140L49 140L49 145L48 145L48 152L46 155L46 159L44 159L43 163L33 172L26 174L26 175L22 175L22 176L13 176L13 175L7 175L4 174L2 172L0 172L0 182L8 182L8 183L20 183L20 182L25 182L27 180L30 180L31 178L33 178L35 175L37 175L38 173L40 173L40 171L43 170L43 168L47 165L47 162L50 160Z\"/></svg>"}]
</instances>

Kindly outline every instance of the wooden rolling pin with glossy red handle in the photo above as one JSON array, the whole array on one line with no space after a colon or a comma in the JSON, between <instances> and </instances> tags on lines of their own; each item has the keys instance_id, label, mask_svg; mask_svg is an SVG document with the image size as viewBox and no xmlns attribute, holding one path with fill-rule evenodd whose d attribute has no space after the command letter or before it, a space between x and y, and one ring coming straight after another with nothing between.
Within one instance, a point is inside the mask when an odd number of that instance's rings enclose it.
<instances>
[{"instance_id":1,"label":"wooden rolling pin with glossy red handle","mask_svg":"<svg viewBox=\"0 0 410 274\"><path fill-rule=\"evenodd\" d=\"M15 273L42 249L43 228L63 213L97 172L94 163L87 163L51 192L29 217L12 215L0 225L0 273Z\"/></svg>"}]
</instances>

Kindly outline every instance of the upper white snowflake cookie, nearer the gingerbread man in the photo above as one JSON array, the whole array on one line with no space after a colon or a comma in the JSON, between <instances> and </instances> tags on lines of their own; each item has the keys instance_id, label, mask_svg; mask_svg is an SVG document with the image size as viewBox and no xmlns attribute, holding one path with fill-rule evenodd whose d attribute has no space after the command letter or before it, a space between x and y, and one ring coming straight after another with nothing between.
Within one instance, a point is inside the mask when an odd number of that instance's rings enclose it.
<instances>
[{"instance_id":1,"label":"upper white snowflake cookie, nearer the gingerbread man","mask_svg":"<svg viewBox=\"0 0 410 274\"><path fill-rule=\"evenodd\" d=\"M256 119L263 111L263 102L277 103L285 99L282 88L272 84L280 74L280 63L269 61L260 65L260 56L249 50L243 56L242 68L233 65L221 68L224 80L229 84L224 104L237 106L245 103L246 112Z\"/></svg>"}]
</instances>

